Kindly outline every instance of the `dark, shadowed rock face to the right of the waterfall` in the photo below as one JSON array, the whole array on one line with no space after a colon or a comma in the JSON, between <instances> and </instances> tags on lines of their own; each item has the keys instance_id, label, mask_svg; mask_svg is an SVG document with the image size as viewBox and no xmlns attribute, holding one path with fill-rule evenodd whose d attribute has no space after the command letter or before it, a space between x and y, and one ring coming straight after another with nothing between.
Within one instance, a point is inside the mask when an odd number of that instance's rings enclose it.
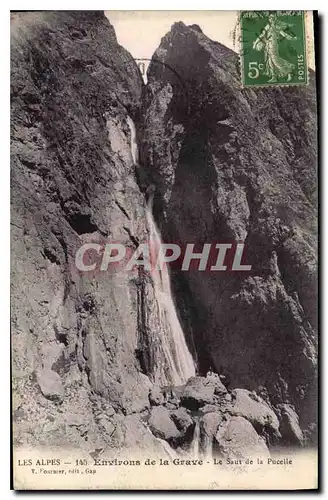
<instances>
[{"instance_id":1,"label":"dark, shadowed rock face to the right of the waterfall","mask_svg":"<svg viewBox=\"0 0 328 500\"><path fill-rule=\"evenodd\" d=\"M156 186L165 241L245 242L250 273L173 270L201 373L214 366L231 387L264 387L307 427L316 419L314 77L308 87L243 89L238 65L198 27L173 25L148 69L142 174Z\"/></svg>"}]
</instances>

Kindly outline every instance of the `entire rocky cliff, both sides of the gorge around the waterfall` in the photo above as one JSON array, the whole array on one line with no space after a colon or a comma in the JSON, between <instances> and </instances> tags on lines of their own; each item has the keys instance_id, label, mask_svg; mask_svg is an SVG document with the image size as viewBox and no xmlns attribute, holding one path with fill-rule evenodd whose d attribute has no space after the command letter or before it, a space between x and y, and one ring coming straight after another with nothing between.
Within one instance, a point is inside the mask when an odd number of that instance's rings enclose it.
<instances>
[{"instance_id":1,"label":"entire rocky cliff, both sides of the gorge around the waterfall","mask_svg":"<svg viewBox=\"0 0 328 500\"><path fill-rule=\"evenodd\" d=\"M13 14L11 50L15 443L184 450L200 425L202 449L215 438L227 456L234 429L244 452L303 444L316 386L313 82L241 89L237 56L178 23L145 87L92 11ZM185 388L159 387L168 327L151 274L74 264L85 242L133 251L149 237L150 184L164 241L245 241L253 266L172 271L197 371L216 372Z\"/></svg>"}]
</instances>

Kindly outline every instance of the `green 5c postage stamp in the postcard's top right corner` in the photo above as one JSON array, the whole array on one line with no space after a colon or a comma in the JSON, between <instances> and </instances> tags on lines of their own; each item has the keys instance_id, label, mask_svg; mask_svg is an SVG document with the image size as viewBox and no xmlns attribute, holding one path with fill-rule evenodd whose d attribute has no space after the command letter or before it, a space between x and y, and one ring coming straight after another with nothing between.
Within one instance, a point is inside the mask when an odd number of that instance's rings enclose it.
<instances>
[{"instance_id":1,"label":"green 5c postage stamp in the postcard's top right corner","mask_svg":"<svg viewBox=\"0 0 328 500\"><path fill-rule=\"evenodd\" d=\"M304 14L290 10L240 13L244 86L308 83Z\"/></svg>"}]
</instances>

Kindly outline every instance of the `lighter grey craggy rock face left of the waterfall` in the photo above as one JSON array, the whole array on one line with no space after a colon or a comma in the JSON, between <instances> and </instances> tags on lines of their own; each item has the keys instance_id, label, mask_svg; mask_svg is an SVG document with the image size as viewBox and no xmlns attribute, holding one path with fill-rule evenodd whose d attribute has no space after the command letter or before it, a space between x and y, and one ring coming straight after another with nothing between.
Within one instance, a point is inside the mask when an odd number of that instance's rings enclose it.
<instances>
[{"instance_id":1,"label":"lighter grey craggy rock face left of the waterfall","mask_svg":"<svg viewBox=\"0 0 328 500\"><path fill-rule=\"evenodd\" d=\"M17 13L11 32L14 408L29 415L15 438L124 446L123 417L149 406L160 352L153 283L82 274L75 255L86 242L132 252L147 235L128 126L142 78L102 12Z\"/></svg>"}]
</instances>

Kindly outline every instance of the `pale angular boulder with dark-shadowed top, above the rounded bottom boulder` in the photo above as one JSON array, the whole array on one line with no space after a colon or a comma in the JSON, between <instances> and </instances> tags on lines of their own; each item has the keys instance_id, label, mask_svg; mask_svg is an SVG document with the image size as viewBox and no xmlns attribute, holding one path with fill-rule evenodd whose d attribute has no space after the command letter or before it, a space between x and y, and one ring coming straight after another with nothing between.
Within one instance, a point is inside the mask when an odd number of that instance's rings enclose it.
<instances>
[{"instance_id":1,"label":"pale angular boulder with dark-shadowed top, above the rounded bottom boulder","mask_svg":"<svg viewBox=\"0 0 328 500\"><path fill-rule=\"evenodd\" d=\"M246 389L232 391L229 413L246 418L259 433L266 430L275 436L280 436L278 417L267 403L254 392Z\"/></svg>"}]
</instances>

